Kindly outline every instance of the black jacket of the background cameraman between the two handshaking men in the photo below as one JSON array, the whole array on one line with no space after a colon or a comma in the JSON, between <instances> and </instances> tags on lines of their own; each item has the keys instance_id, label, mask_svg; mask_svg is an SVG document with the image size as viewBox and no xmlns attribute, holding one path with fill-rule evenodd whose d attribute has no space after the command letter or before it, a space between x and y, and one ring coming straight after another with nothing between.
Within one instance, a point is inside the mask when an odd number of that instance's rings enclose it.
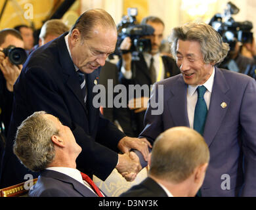
<instances>
[{"instance_id":1,"label":"black jacket of the background cameraman between the two handshaking men","mask_svg":"<svg viewBox=\"0 0 256 210\"><path fill-rule=\"evenodd\" d=\"M139 54L139 58L140 60L133 60L131 62L131 70L133 72L132 79L125 79L123 74L120 72L119 83L125 85L127 90L129 89L129 85L148 85L149 90L150 85L153 85L144 56ZM180 74L179 67L173 58L170 58L169 56L162 56L162 60L165 69L164 78L173 77L174 75ZM119 70L121 70L121 62L122 60L120 60L120 62L117 64ZM142 96L149 97L149 95L144 95L144 93L142 93ZM127 120L124 130L128 130L129 133L131 130L133 130L133 137L138 137L142 129L144 129L144 115L145 111L135 114L135 112L133 110L129 110L129 108L127 108L126 111L124 110L123 116L127 116L127 119L129 119Z\"/></svg>"}]
</instances>

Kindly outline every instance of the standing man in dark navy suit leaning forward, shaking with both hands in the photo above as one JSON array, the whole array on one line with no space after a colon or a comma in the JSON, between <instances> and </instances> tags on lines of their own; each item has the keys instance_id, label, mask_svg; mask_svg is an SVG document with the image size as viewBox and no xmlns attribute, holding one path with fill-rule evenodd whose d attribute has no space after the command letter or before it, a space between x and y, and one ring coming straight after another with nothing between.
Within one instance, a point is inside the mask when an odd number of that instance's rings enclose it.
<instances>
[{"instance_id":1,"label":"standing man in dark navy suit leaning forward, shaking with both hands","mask_svg":"<svg viewBox=\"0 0 256 210\"><path fill-rule=\"evenodd\" d=\"M41 110L58 117L72 130L82 148L77 169L105 180L116 168L125 179L135 179L141 167L129 149L137 148L147 159L148 141L126 137L93 106L93 87L98 83L100 67L114 52L116 41L116 24L110 14L94 9L81 14L69 33L30 54L14 85L14 110L0 188L24 182L24 175L31 173L14 156L12 144L20 123ZM37 175L33 174L34 178Z\"/></svg>"}]
</instances>

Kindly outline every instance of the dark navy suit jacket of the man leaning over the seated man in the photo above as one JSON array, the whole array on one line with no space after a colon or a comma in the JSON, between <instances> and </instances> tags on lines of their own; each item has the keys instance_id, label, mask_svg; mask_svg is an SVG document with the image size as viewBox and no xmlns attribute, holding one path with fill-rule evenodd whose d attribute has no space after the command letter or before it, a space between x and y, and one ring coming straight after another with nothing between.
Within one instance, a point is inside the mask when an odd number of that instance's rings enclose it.
<instances>
[{"instance_id":1,"label":"dark navy suit jacket of the man leaning over the seated man","mask_svg":"<svg viewBox=\"0 0 256 210\"><path fill-rule=\"evenodd\" d=\"M93 87L100 70L87 76L86 107L64 35L33 51L14 85L14 107L1 171L2 187L24 182L24 175L32 173L14 156L12 144L20 123L41 110L58 117L74 133L82 148L77 158L79 171L105 180L116 167L117 143L125 135L93 106L96 95Z\"/></svg>"}]
</instances>

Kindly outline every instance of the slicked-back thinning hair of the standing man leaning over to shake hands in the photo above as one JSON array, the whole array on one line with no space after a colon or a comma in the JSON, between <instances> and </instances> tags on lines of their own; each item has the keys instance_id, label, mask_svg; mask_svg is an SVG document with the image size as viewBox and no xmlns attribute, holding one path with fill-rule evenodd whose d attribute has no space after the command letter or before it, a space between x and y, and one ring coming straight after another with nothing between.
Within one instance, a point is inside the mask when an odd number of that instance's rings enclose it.
<instances>
[{"instance_id":1,"label":"slicked-back thinning hair of the standing man leaning over to shake hands","mask_svg":"<svg viewBox=\"0 0 256 210\"><path fill-rule=\"evenodd\" d=\"M103 9L91 9L84 12L79 16L79 18L77 18L74 26L70 30L70 35L72 31L77 28L83 39L91 39L95 34L94 30L97 26L116 30L116 24L108 12Z\"/></svg>"}]
</instances>

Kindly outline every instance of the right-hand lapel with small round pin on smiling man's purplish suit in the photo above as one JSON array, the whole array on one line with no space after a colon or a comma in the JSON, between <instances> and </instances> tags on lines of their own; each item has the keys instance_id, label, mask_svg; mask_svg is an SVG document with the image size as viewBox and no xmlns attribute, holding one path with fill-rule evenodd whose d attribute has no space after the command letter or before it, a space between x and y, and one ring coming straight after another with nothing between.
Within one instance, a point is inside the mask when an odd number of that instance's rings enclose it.
<instances>
[{"instance_id":1,"label":"right-hand lapel with small round pin on smiling man's purplish suit","mask_svg":"<svg viewBox=\"0 0 256 210\"><path fill-rule=\"evenodd\" d=\"M209 111L205 122L205 129L203 136L208 146L215 138L219 127L229 109L230 98L226 95L229 87L226 83L223 73L218 68L215 68L215 78L213 83L213 91L211 93L211 102L209 105ZM222 108L221 104L225 102L226 108Z\"/></svg>"}]
</instances>

